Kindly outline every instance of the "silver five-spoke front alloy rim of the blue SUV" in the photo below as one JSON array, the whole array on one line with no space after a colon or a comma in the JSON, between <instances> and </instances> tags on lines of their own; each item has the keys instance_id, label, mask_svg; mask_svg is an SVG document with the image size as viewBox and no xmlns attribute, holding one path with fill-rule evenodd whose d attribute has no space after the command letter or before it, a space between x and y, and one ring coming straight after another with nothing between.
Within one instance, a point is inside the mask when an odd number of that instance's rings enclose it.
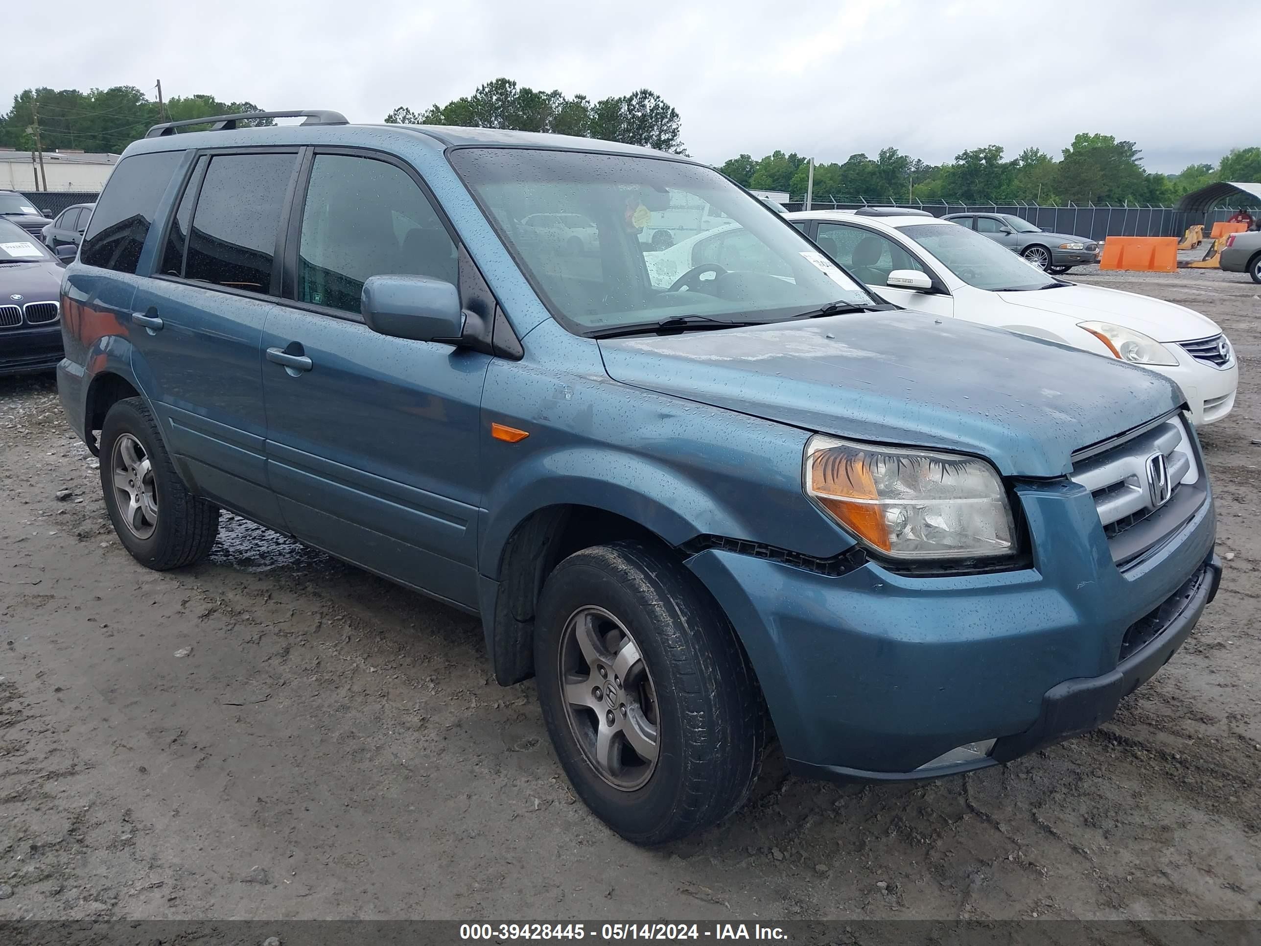
<instances>
[{"instance_id":1,"label":"silver five-spoke front alloy rim of the blue SUV","mask_svg":"<svg viewBox=\"0 0 1261 946\"><path fill-rule=\"evenodd\" d=\"M657 692L625 624L594 605L561 632L557 680L565 716L595 772L614 788L643 787L661 747Z\"/></svg>"}]
</instances>

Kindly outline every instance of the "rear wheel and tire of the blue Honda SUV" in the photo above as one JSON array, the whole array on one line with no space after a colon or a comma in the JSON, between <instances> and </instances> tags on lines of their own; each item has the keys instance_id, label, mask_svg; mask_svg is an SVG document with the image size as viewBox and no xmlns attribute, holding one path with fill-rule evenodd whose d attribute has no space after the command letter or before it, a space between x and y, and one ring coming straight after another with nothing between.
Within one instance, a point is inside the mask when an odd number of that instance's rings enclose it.
<instances>
[{"instance_id":1,"label":"rear wheel and tire of the blue Honda SUV","mask_svg":"<svg viewBox=\"0 0 1261 946\"><path fill-rule=\"evenodd\" d=\"M122 474L117 484L116 470ZM105 415L101 489L119 541L141 565L156 571L183 568L204 559L214 545L219 507L188 492L140 397L119 401Z\"/></svg>"}]
</instances>

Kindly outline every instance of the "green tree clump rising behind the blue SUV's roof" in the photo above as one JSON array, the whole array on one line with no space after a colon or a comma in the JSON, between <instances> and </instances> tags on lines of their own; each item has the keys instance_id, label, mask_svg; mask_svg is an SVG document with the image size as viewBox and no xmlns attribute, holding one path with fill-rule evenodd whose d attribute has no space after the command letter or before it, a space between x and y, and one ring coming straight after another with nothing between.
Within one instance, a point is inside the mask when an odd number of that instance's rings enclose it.
<instances>
[{"instance_id":1,"label":"green tree clump rising behind the blue SUV's roof","mask_svg":"<svg viewBox=\"0 0 1261 946\"><path fill-rule=\"evenodd\" d=\"M497 78L478 86L470 96L433 105L424 112L398 106L386 121L550 131L687 154L680 137L678 112L649 88L593 102L581 93L569 97L557 90L541 92L508 78Z\"/></svg>"}]
</instances>

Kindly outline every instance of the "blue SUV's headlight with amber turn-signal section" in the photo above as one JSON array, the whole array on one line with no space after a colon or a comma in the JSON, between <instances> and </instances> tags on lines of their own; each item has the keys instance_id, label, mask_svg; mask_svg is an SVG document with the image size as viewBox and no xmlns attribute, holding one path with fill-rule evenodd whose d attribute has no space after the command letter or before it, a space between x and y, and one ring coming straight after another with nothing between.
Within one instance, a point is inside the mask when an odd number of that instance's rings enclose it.
<instances>
[{"instance_id":1,"label":"blue SUV's headlight with amber turn-signal section","mask_svg":"<svg viewBox=\"0 0 1261 946\"><path fill-rule=\"evenodd\" d=\"M952 453L902 450L816 434L806 494L847 532L895 559L975 559L1015 550L995 469Z\"/></svg>"}]
</instances>

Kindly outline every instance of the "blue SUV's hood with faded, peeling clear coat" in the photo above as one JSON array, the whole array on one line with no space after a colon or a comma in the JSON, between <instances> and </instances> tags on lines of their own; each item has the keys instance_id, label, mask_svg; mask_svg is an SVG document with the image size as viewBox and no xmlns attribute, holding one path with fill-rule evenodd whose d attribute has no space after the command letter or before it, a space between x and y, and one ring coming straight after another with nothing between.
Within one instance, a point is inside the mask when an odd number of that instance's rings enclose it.
<instances>
[{"instance_id":1,"label":"blue SUV's hood with faded, peeling clear coat","mask_svg":"<svg viewBox=\"0 0 1261 946\"><path fill-rule=\"evenodd\" d=\"M1183 402L1153 371L913 312L599 344L627 385L805 430L972 453L1004 476L1068 473L1074 450Z\"/></svg>"}]
</instances>

